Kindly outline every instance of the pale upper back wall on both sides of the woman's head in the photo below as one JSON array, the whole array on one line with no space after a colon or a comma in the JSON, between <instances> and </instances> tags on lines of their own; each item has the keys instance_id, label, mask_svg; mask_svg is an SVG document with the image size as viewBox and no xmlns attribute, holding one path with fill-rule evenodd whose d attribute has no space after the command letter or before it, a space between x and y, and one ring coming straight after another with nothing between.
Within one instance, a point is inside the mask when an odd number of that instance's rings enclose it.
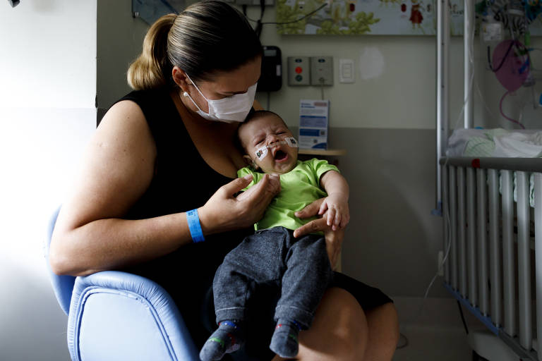
<instances>
[{"instance_id":1,"label":"pale upper back wall on both sides of the woman's head","mask_svg":"<svg viewBox=\"0 0 542 361\"><path fill-rule=\"evenodd\" d=\"M191 4L193 0L187 1ZM126 84L128 63L140 53L148 25L128 16L131 1L98 1L98 78L99 108L107 108L129 91ZM264 21L275 21L275 7L267 7ZM260 15L257 6L248 8L249 18ZM270 109L281 114L290 126L299 123L299 99L320 99L320 87L289 87L287 56L333 56L334 85L325 87L331 99L330 121L333 127L434 129L436 114L436 40L434 36L311 36L278 35L275 25L264 25L261 41L282 50L283 83L279 92L270 94ZM533 38L534 46L541 39ZM486 54L475 39L476 126L510 127L499 114L499 100L505 89L493 73L485 70ZM534 63L542 63L542 51L531 53ZM339 83L339 59L354 59L356 82ZM450 127L462 125L463 104L463 38L452 37L450 48ZM361 77L363 74L366 79ZM542 92L541 84L535 86ZM479 91L478 91L479 89ZM483 94L483 98L482 95ZM542 127L542 108L534 111L524 105L530 89L519 90L504 102L505 114L522 116L527 126ZM267 94L258 94L267 106ZM487 110L489 109L489 111ZM459 119L459 120L458 120Z\"/></svg>"}]
</instances>

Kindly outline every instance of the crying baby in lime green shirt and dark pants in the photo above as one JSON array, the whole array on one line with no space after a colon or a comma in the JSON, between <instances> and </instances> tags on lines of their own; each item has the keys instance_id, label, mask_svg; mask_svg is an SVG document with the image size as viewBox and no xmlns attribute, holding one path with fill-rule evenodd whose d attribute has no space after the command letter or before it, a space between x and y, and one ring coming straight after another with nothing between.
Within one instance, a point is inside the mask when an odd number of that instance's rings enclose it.
<instances>
[{"instance_id":1,"label":"crying baby in lime green shirt and dark pants","mask_svg":"<svg viewBox=\"0 0 542 361\"><path fill-rule=\"evenodd\" d=\"M270 349L281 357L295 357L299 331L311 326L332 278L324 236L294 238L294 230L311 221L297 218L295 212L325 197L319 214L327 217L333 229L346 226L348 184L327 161L298 161L297 141L282 118L271 111L255 111L239 126L238 135L251 166L240 169L238 176L253 176L247 188L258 183L263 173L277 173L281 191L255 224L255 234L231 250L217 269L213 294L219 328L203 345L200 358L220 360L243 345L246 299L254 283L275 283L280 288Z\"/></svg>"}]
</instances>

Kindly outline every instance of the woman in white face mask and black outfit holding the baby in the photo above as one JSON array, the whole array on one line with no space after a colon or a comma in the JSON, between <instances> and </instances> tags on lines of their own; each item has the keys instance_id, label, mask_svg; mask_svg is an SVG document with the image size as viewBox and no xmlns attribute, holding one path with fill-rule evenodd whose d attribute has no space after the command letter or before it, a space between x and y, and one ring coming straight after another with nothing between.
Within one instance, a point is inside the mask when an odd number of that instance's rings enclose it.
<instances>
[{"instance_id":1,"label":"woman in white face mask and black outfit holding the baby","mask_svg":"<svg viewBox=\"0 0 542 361\"><path fill-rule=\"evenodd\" d=\"M150 27L128 70L136 91L102 119L59 214L49 254L57 274L123 269L153 279L203 344L213 328L204 325L214 316L215 270L279 192L277 176L265 176L236 196L251 181L235 179L244 163L234 140L253 104L261 54L246 19L223 1L202 1ZM315 215L320 202L299 216ZM317 219L296 235L315 230L325 232L335 263L342 233ZM299 360L391 360L398 326L390 299L345 280L327 290L311 330L300 334ZM259 302L269 302L265 294ZM247 350L280 360L269 352Z\"/></svg>"}]
</instances>

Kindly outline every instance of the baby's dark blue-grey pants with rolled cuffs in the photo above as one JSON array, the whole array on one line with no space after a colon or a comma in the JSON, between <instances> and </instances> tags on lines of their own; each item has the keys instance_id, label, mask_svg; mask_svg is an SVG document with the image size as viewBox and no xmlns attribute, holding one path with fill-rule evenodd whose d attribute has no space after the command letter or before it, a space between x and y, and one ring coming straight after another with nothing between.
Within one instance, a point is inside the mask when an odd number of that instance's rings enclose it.
<instances>
[{"instance_id":1,"label":"baby's dark blue-grey pants with rolled cuffs","mask_svg":"<svg viewBox=\"0 0 542 361\"><path fill-rule=\"evenodd\" d=\"M294 238L293 233L284 227L257 231L226 255L212 286L217 323L245 319L253 290L275 284L281 291L275 320L311 326L333 273L323 236Z\"/></svg>"}]
</instances>

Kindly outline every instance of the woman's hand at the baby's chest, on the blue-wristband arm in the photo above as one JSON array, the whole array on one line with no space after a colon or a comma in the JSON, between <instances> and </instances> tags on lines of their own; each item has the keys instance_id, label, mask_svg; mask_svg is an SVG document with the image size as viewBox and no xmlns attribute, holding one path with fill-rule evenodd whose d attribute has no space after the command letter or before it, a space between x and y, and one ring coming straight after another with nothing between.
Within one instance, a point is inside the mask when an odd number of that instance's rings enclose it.
<instances>
[{"instance_id":1,"label":"woman's hand at the baby's chest, on the blue-wristband arm","mask_svg":"<svg viewBox=\"0 0 542 361\"><path fill-rule=\"evenodd\" d=\"M261 181L235 197L251 181L252 176L248 175L222 185L198 209L204 235L249 227L262 218L267 205L280 192L279 175L265 174Z\"/></svg>"}]
</instances>

